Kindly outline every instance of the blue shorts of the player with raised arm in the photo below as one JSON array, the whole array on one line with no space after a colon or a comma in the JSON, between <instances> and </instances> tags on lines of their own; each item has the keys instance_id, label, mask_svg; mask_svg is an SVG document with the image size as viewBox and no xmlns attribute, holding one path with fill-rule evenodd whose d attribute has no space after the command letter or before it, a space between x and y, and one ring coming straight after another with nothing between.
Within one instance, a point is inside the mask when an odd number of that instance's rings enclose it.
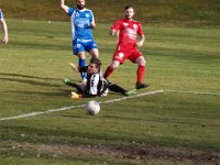
<instances>
[{"instance_id":1,"label":"blue shorts of the player with raised arm","mask_svg":"<svg viewBox=\"0 0 220 165\"><path fill-rule=\"evenodd\" d=\"M92 48L98 48L94 40L75 38L73 40L73 51L77 55L79 52L90 52Z\"/></svg>"}]
</instances>

